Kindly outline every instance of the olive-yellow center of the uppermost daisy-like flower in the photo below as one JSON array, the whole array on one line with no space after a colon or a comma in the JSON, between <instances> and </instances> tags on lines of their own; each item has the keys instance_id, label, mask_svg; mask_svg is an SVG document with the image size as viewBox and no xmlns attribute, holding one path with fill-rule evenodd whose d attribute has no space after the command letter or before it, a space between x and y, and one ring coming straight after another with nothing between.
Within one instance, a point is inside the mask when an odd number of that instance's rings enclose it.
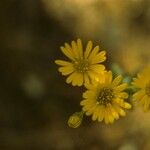
<instances>
[{"instance_id":1,"label":"olive-yellow center of the uppermost daisy-like flower","mask_svg":"<svg viewBox=\"0 0 150 150\"><path fill-rule=\"evenodd\" d=\"M84 73L89 70L89 62L86 59L80 59L73 62L74 68L80 73Z\"/></svg>"}]
</instances>

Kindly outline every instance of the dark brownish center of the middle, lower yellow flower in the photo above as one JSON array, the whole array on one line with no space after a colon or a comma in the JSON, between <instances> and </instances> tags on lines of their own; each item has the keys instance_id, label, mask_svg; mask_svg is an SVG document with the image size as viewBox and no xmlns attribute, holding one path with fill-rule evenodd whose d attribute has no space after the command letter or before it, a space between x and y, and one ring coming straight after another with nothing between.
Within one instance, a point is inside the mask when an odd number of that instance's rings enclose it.
<instances>
[{"instance_id":1,"label":"dark brownish center of the middle, lower yellow flower","mask_svg":"<svg viewBox=\"0 0 150 150\"><path fill-rule=\"evenodd\" d=\"M104 87L99 91L97 97L97 104L106 106L108 103L111 103L113 98L114 98L113 90L111 88Z\"/></svg>"}]
</instances>

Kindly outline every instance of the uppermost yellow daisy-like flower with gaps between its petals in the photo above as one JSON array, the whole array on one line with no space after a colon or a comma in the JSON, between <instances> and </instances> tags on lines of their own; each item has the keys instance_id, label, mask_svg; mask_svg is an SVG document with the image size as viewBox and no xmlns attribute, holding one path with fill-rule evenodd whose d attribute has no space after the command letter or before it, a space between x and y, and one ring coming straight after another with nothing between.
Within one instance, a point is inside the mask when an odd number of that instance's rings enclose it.
<instances>
[{"instance_id":1,"label":"uppermost yellow daisy-like flower with gaps between its petals","mask_svg":"<svg viewBox=\"0 0 150 150\"><path fill-rule=\"evenodd\" d=\"M92 42L89 41L85 51L83 51L82 42L72 41L71 46L65 43L61 51L69 58L69 61L56 60L55 63L61 67L58 69L62 75L67 76L66 82L73 86L82 86L98 75L104 73L105 66L99 64L106 60L105 51L99 52L99 46L92 48Z\"/></svg>"}]
</instances>

